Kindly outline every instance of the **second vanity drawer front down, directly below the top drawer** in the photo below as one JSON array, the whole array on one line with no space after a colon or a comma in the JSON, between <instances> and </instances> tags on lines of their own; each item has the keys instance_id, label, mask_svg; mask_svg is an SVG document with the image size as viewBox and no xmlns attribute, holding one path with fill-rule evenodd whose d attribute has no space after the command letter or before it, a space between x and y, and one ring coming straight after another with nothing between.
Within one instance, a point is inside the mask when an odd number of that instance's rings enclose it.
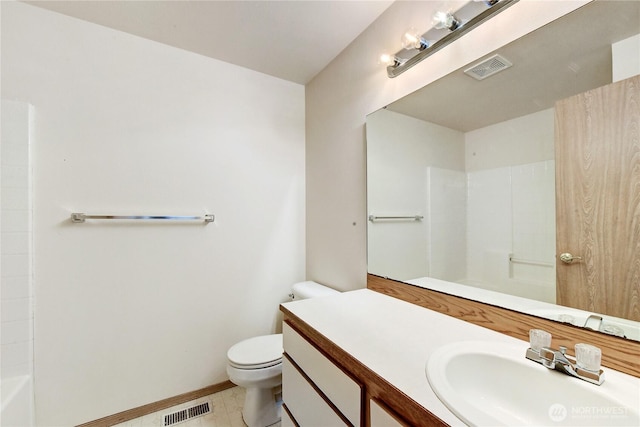
<instances>
[{"instance_id":1,"label":"second vanity drawer front down, directly below the top drawer","mask_svg":"<svg viewBox=\"0 0 640 427\"><path fill-rule=\"evenodd\" d=\"M300 426L347 425L286 357L282 359L282 400Z\"/></svg>"}]
</instances>

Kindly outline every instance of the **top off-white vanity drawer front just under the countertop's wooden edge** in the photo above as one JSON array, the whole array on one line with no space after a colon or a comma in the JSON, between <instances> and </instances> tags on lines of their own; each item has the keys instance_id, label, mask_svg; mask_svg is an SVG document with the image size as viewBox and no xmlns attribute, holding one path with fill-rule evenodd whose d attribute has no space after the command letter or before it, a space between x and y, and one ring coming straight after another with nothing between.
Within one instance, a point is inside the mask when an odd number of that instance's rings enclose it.
<instances>
[{"instance_id":1,"label":"top off-white vanity drawer front just under the countertop's wooden edge","mask_svg":"<svg viewBox=\"0 0 640 427\"><path fill-rule=\"evenodd\" d=\"M282 332L285 353L354 426L359 426L362 386L324 357L287 323L284 323Z\"/></svg>"}]
</instances>

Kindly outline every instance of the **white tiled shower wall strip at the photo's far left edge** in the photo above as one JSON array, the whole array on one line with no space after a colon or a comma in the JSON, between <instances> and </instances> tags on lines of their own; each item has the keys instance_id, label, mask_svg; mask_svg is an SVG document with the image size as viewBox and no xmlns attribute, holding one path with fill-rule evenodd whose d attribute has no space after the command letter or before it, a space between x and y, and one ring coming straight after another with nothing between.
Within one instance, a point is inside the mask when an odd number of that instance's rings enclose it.
<instances>
[{"instance_id":1,"label":"white tiled shower wall strip at the photo's far left edge","mask_svg":"<svg viewBox=\"0 0 640 427\"><path fill-rule=\"evenodd\" d=\"M32 108L2 100L1 265L2 379L33 372L31 192L29 137Z\"/></svg>"}]
</instances>

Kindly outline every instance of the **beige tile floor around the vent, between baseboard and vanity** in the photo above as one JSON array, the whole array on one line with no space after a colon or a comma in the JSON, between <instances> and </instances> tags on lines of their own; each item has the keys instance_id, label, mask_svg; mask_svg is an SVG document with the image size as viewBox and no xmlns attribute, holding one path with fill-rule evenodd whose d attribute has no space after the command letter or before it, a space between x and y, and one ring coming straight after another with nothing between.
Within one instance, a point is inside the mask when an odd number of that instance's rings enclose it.
<instances>
[{"instance_id":1,"label":"beige tile floor around the vent, between baseboard and vanity","mask_svg":"<svg viewBox=\"0 0 640 427\"><path fill-rule=\"evenodd\" d=\"M201 397L191 402L163 409L144 417L136 418L114 427L162 427L165 414L179 411L200 403L209 402L209 407L213 408L209 414L192 418L188 421L173 424L175 427L246 427L242 421L242 404L244 402L244 389L233 387L219 393ZM172 426L172 427L173 427ZM280 423L272 427L280 427Z\"/></svg>"}]
</instances>

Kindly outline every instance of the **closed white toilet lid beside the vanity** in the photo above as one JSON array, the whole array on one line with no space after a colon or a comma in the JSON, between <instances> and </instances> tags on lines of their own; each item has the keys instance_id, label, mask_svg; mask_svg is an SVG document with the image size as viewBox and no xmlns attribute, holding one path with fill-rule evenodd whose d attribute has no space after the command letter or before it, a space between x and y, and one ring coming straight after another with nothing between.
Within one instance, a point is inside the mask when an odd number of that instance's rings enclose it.
<instances>
[{"instance_id":1,"label":"closed white toilet lid beside the vanity","mask_svg":"<svg viewBox=\"0 0 640 427\"><path fill-rule=\"evenodd\" d=\"M273 334L240 341L229 349L227 358L233 366L250 369L274 365L282 353L282 334Z\"/></svg>"}]
</instances>

